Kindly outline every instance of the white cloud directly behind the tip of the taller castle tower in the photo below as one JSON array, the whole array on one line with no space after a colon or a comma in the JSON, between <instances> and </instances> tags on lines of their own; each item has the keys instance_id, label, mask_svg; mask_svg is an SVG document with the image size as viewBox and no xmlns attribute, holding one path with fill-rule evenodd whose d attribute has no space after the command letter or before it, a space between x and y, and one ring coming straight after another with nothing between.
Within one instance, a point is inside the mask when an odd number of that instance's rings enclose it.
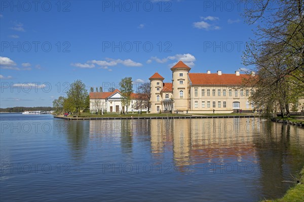
<instances>
[{"instance_id":1,"label":"white cloud directly behind the tip of the taller castle tower","mask_svg":"<svg viewBox=\"0 0 304 202\"><path fill-rule=\"evenodd\" d=\"M166 58L160 59L158 57L151 57L149 60L147 60L147 63L151 63L152 61L156 61L157 63L166 63L169 60L175 60L176 62L178 62L179 60L181 60L182 62L184 62L186 65L193 67L195 64L194 62L196 61L196 58L187 53L187 54L176 54L174 56L168 56ZM176 64L176 62L169 64L170 67L174 66Z\"/></svg>"}]
</instances>

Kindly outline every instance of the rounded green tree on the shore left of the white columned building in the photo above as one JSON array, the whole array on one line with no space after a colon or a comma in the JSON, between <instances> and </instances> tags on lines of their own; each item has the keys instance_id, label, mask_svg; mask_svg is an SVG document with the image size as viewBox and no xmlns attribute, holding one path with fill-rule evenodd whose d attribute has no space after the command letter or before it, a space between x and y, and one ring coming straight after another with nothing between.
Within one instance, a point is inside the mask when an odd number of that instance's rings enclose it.
<instances>
[{"instance_id":1,"label":"rounded green tree on the shore left of the white columned building","mask_svg":"<svg viewBox=\"0 0 304 202\"><path fill-rule=\"evenodd\" d=\"M86 108L86 99L88 98L86 85L81 80L75 80L66 94L69 104L75 108L77 115L80 115L80 111Z\"/></svg>"}]
</instances>

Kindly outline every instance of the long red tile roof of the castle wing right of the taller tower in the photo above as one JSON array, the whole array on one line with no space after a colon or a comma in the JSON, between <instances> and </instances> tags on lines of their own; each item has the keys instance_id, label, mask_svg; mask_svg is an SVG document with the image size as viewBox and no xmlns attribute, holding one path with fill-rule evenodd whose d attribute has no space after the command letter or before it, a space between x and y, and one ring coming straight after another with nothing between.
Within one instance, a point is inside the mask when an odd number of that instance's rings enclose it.
<instances>
[{"instance_id":1,"label":"long red tile roof of the castle wing right of the taller tower","mask_svg":"<svg viewBox=\"0 0 304 202\"><path fill-rule=\"evenodd\" d=\"M240 74L221 74L217 73L189 73L192 85L241 85L244 78L250 75Z\"/></svg>"}]
</instances>

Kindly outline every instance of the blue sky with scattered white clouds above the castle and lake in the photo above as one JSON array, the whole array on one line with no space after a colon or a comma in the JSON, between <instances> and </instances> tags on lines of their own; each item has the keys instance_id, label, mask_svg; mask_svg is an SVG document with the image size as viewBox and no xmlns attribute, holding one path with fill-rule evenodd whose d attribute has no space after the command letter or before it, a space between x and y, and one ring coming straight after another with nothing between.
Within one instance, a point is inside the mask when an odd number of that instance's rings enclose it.
<instances>
[{"instance_id":1,"label":"blue sky with scattered white clouds above the castle and lake","mask_svg":"<svg viewBox=\"0 0 304 202\"><path fill-rule=\"evenodd\" d=\"M2 1L1 104L52 106L74 80L119 87L121 78L171 82L191 72L234 73L255 25L240 1ZM136 88L136 87L134 87Z\"/></svg>"}]
</instances>

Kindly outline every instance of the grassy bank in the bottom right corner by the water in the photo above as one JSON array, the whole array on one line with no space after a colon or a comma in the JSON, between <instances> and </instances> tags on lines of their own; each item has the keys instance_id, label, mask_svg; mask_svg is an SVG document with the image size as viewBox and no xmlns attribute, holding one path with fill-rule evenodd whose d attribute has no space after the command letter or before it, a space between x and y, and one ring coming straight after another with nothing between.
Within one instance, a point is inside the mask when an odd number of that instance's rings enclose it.
<instances>
[{"instance_id":1,"label":"grassy bank in the bottom right corner by the water","mask_svg":"<svg viewBox=\"0 0 304 202\"><path fill-rule=\"evenodd\" d=\"M304 201L304 167L302 168L299 178L297 179L297 184L290 187L286 194L279 199L274 200L262 200L265 202L302 202Z\"/></svg>"}]
</instances>

